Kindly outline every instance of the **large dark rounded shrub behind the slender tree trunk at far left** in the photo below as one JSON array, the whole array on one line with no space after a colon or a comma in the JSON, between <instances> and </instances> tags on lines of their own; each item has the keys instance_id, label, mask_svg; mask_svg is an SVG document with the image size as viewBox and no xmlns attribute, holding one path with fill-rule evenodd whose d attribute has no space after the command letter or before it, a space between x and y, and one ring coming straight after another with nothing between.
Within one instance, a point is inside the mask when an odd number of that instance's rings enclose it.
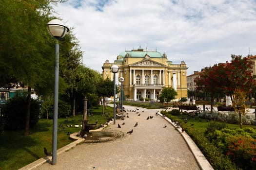
<instances>
[{"instance_id":1,"label":"large dark rounded shrub behind the slender tree trunk at far left","mask_svg":"<svg viewBox=\"0 0 256 170\"><path fill-rule=\"evenodd\" d=\"M4 129L21 130L25 127L27 98L16 96L10 99L2 108L3 118L6 120ZM39 120L39 102L31 99L29 126L33 128Z\"/></svg>"}]
</instances>

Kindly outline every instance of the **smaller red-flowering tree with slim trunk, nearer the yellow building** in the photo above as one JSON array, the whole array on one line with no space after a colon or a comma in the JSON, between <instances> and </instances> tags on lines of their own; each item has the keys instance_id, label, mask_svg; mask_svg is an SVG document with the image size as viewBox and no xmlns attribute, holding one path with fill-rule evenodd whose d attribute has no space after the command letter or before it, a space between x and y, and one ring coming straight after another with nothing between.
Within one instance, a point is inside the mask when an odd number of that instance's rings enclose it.
<instances>
[{"instance_id":1,"label":"smaller red-flowering tree with slim trunk, nearer the yellow building","mask_svg":"<svg viewBox=\"0 0 256 170\"><path fill-rule=\"evenodd\" d=\"M197 90L201 90L210 94L211 97L211 113L213 113L214 96L223 90L225 83L225 65L218 64L213 67L204 68L201 74L195 78Z\"/></svg>"}]
</instances>

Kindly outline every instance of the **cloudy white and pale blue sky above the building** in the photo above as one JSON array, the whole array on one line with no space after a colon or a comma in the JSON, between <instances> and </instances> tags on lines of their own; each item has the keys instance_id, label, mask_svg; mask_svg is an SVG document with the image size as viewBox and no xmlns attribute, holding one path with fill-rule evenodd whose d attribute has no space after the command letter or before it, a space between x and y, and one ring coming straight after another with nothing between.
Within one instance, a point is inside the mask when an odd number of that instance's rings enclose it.
<instances>
[{"instance_id":1,"label":"cloudy white and pale blue sky above the building","mask_svg":"<svg viewBox=\"0 0 256 170\"><path fill-rule=\"evenodd\" d=\"M166 53L187 75L256 55L256 0L68 0L53 6L84 51L82 63L101 73L106 60L138 49Z\"/></svg>"}]
</instances>

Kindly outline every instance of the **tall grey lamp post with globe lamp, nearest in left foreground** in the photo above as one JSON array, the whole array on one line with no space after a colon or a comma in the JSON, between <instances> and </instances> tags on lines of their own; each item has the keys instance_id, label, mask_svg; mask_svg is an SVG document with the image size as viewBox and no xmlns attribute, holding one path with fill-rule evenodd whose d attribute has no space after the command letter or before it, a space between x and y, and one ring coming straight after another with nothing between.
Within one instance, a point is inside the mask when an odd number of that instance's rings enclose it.
<instances>
[{"instance_id":1,"label":"tall grey lamp post with globe lamp, nearest in left foreground","mask_svg":"<svg viewBox=\"0 0 256 170\"><path fill-rule=\"evenodd\" d=\"M54 66L54 113L53 113L53 143L52 143L52 165L57 159L57 134L58 134L58 100L59 100L59 40L69 32L59 19L53 19L47 23L47 28L55 42L55 66Z\"/></svg>"}]
</instances>

